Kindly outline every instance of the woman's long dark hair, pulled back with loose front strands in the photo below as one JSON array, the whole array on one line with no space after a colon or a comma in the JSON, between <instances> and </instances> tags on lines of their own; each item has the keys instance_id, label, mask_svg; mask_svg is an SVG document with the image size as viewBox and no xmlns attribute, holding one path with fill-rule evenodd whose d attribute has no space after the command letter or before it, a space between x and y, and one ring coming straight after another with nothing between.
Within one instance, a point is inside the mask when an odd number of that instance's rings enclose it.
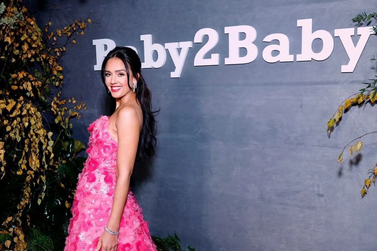
<instances>
[{"instance_id":1,"label":"woman's long dark hair, pulled back with loose front strands","mask_svg":"<svg viewBox=\"0 0 377 251\"><path fill-rule=\"evenodd\" d=\"M112 51L107 54L105 59L103 60L102 67L101 67L101 78L102 82L106 88L105 84L105 66L107 63L107 60L110 58L119 58L123 61L124 66L126 67L127 72L127 79L128 79L128 87L131 89L130 86L130 70L132 72L132 75L137 80L137 87L135 90L136 94L136 101L141 106L141 109L143 110L143 127L141 129L141 133L139 136L139 145L138 145L138 151L136 153L136 158L141 159L144 157L152 157L155 155L155 148L156 148L156 132L157 132L157 125L155 121L156 113L157 111L152 111L152 101L151 101L151 95L150 91L147 87L147 83L145 82L143 76L141 75L141 61L136 54L136 52L129 48L129 47L120 47L116 46ZM137 75L139 73L139 77ZM112 97L112 95L107 92L107 95L110 98L110 102L112 105L112 112L115 111L115 98Z\"/></svg>"}]
</instances>

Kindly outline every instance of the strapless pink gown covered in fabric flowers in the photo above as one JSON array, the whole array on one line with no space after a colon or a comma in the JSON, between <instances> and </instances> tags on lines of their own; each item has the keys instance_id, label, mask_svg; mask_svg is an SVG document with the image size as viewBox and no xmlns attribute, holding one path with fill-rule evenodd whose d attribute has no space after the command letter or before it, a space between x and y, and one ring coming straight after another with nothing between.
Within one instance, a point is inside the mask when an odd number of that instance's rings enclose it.
<instances>
[{"instance_id":1,"label":"strapless pink gown covered in fabric flowers","mask_svg":"<svg viewBox=\"0 0 377 251\"><path fill-rule=\"evenodd\" d=\"M78 176L64 251L95 251L109 221L118 145L108 127L109 118L100 116L88 128L90 138L86 151L89 156ZM142 210L131 191L120 222L118 251L156 251L148 223L143 220Z\"/></svg>"}]
</instances>

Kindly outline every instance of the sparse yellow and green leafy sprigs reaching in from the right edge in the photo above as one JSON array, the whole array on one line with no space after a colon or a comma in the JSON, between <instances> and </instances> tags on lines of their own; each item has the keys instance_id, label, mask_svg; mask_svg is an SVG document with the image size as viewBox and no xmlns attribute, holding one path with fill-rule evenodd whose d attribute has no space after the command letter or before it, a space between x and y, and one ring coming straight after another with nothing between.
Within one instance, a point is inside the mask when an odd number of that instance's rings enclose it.
<instances>
[{"instance_id":1,"label":"sparse yellow and green leafy sprigs reaching in from the right edge","mask_svg":"<svg viewBox=\"0 0 377 251\"><path fill-rule=\"evenodd\" d=\"M377 13L373 12L371 14L366 14L366 12L364 12L362 14L357 14L354 18L352 18L352 21L357 22L360 25L365 24L365 23L368 25L372 18L376 19ZM372 26L372 29L374 31L374 35L377 36L377 26ZM375 63L377 65L377 59L375 57L371 58L371 60L376 61ZM363 83L366 86L364 88L360 89L358 93L355 93L354 95L349 96L348 98L346 98L342 102L342 104L339 106L338 110L334 113L333 117L327 122L328 133L331 133L335 124L339 123L340 118L343 115L343 111L351 109L351 106L353 106L353 105L360 105L360 104L366 103L366 102L370 102L371 104L375 103L375 101L377 100L377 96L376 96L376 94L377 94L377 86L376 86L377 76L374 76L374 77L376 77L376 78L375 79L369 79L369 81L371 81L371 82ZM359 152L361 150L361 148L363 147L363 142L360 141L360 139L363 136L366 136L366 135L369 135L369 134L372 134L372 133L377 133L377 132L366 133L366 134L352 140L351 142L349 142L343 148L342 152L338 156L338 163L341 163L343 161L343 152L345 151L346 147L351 145L348 148L349 157L351 157L353 152ZM352 144L356 141L357 141L356 144ZM367 191L368 191L368 189L371 185L371 182L373 182L373 184L375 185L375 180L377 178L377 164L375 164L374 168L369 169L368 171L369 171L370 175L367 179L364 180L363 188L361 190L361 197L362 198L367 193Z\"/></svg>"}]
</instances>

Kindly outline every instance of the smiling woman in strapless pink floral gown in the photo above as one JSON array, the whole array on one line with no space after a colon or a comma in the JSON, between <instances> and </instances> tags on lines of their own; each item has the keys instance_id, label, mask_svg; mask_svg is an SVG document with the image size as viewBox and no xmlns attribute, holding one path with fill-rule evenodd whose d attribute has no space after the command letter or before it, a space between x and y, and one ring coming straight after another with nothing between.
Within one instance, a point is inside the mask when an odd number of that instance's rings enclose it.
<instances>
[{"instance_id":1,"label":"smiling woman in strapless pink floral gown","mask_svg":"<svg viewBox=\"0 0 377 251\"><path fill-rule=\"evenodd\" d=\"M88 128L88 159L79 174L64 251L156 250L129 190L135 158L153 156L156 122L135 51L115 47L101 76L115 112Z\"/></svg>"}]
</instances>

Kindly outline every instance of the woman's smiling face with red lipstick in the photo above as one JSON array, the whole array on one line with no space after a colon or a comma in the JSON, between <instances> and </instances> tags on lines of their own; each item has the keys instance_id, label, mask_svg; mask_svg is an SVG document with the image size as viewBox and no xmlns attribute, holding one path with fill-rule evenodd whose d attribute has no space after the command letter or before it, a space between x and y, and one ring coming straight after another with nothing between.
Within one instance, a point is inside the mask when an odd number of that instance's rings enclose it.
<instances>
[{"instance_id":1,"label":"woman's smiling face with red lipstick","mask_svg":"<svg viewBox=\"0 0 377 251\"><path fill-rule=\"evenodd\" d=\"M121 98L131 91L136 79L133 77L129 67L130 80L127 79L127 72L124 63L119 58L110 58L105 65L105 84L113 98Z\"/></svg>"}]
</instances>

